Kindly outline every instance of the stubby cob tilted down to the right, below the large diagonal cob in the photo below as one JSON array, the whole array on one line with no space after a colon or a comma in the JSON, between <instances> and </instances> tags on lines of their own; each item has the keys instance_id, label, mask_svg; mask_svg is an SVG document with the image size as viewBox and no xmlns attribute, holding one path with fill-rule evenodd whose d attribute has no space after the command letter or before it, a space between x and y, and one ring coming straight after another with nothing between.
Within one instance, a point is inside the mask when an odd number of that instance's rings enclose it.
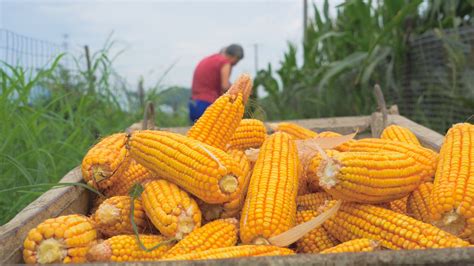
<instances>
[{"instance_id":1,"label":"stubby cob tilted down to the right, below the large diagonal cob","mask_svg":"<svg viewBox=\"0 0 474 266\"><path fill-rule=\"evenodd\" d=\"M142 203L148 218L166 237L182 239L201 226L201 211L196 201L166 180L145 183Z\"/></svg>"}]
</instances>

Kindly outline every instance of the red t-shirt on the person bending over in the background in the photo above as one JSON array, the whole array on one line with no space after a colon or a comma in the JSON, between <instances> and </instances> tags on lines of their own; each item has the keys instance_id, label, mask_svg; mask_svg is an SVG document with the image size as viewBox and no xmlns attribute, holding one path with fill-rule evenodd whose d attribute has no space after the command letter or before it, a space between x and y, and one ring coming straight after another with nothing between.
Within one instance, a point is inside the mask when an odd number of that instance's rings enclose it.
<instances>
[{"instance_id":1,"label":"red t-shirt on the person bending over in the background","mask_svg":"<svg viewBox=\"0 0 474 266\"><path fill-rule=\"evenodd\" d=\"M222 54L213 54L201 60L194 70L191 99L214 102L222 94L221 69L230 63Z\"/></svg>"}]
</instances>

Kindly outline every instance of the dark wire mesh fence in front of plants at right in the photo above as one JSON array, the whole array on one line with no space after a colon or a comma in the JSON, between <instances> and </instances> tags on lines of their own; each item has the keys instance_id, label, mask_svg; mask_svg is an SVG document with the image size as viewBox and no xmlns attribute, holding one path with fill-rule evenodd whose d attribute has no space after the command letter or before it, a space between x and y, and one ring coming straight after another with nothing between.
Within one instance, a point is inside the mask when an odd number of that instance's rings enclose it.
<instances>
[{"instance_id":1,"label":"dark wire mesh fence in front of plants at right","mask_svg":"<svg viewBox=\"0 0 474 266\"><path fill-rule=\"evenodd\" d=\"M474 114L474 27L433 30L410 41L400 113L438 132Z\"/></svg>"}]
</instances>

